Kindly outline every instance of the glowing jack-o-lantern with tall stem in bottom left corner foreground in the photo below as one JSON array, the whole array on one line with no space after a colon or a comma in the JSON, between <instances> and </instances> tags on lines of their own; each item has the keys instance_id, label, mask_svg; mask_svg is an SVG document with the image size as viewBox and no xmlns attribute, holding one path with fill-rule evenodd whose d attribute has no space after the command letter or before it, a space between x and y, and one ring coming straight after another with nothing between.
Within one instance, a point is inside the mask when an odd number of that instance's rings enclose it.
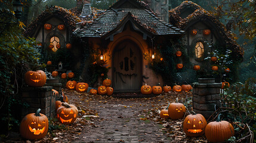
<instances>
[{"instance_id":1,"label":"glowing jack-o-lantern with tall stem in bottom left corner foreground","mask_svg":"<svg viewBox=\"0 0 256 143\"><path fill-rule=\"evenodd\" d=\"M26 139L41 139L48 132L48 118L40 113L39 108L36 113L27 114L20 123L20 135Z\"/></svg>"}]
</instances>

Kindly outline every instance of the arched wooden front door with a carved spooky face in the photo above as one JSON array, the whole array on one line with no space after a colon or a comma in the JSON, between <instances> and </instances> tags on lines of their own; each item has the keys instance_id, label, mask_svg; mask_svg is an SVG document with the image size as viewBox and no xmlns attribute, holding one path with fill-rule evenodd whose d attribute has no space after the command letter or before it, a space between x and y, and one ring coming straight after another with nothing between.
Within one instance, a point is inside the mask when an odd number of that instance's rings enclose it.
<instances>
[{"instance_id":1,"label":"arched wooden front door with a carved spooky face","mask_svg":"<svg viewBox=\"0 0 256 143\"><path fill-rule=\"evenodd\" d=\"M138 45L120 42L113 51L113 87L115 91L138 91L141 87L142 58Z\"/></svg>"}]
</instances>

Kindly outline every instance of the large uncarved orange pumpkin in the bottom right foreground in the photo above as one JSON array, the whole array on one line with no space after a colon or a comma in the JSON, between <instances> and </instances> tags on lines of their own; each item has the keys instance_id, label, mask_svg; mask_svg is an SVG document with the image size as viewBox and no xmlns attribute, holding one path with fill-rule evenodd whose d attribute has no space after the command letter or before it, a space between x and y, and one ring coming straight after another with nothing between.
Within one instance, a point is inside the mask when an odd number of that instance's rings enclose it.
<instances>
[{"instance_id":1,"label":"large uncarved orange pumpkin in the bottom right foreground","mask_svg":"<svg viewBox=\"0 0 256 143\"><path fill-rule=\"evenodd\" d=\"M222 121L220 119L221 114L214 122L208 123L205 128L205 136L210 142L224 142L231 136L235 135L235 130L231 123Z\"/></svg>"}]
</instances>

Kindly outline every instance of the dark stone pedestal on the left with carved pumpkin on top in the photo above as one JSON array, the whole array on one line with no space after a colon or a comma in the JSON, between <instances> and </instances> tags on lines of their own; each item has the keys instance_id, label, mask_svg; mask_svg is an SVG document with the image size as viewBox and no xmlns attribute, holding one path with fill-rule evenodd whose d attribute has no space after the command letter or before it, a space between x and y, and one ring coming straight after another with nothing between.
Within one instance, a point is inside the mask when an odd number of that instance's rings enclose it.
<instances>
[{"instance_id":1,"label":"dark stone pedestal on the left with carved pumpkin on top","mask_svg":"<svg viewBox=\"0 0 256 143\"><path fill-rule=\"evenodd\" d=\"M41 108L42 114L53 118L55 116L55 98L51 89L53 89L51 86L23 88L21 100L27 102L29 107L21 109L21 119L26 114L35 113L38 108Z\"/></svg>"}]
</instances>

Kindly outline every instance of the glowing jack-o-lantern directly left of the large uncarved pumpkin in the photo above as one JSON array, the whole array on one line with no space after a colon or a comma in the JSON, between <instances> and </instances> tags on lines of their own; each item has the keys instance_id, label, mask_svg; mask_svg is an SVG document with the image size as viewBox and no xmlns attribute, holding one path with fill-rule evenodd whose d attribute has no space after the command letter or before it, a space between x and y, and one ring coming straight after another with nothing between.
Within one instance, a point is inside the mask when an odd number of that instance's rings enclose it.
<instances>
[{"instance_id":1,"label":"glowing jack-o-lantern directly left of the large uncarved pumpkin","mask_svg":"<svg viewBox=\"0 0 256 143\"><path fill-rule=\"evenodd\" d=\"M183 130L187 136L201 136L205 132L207 122L202 114L190 114L183 122Z\"/></svg>"}]
</instances>

